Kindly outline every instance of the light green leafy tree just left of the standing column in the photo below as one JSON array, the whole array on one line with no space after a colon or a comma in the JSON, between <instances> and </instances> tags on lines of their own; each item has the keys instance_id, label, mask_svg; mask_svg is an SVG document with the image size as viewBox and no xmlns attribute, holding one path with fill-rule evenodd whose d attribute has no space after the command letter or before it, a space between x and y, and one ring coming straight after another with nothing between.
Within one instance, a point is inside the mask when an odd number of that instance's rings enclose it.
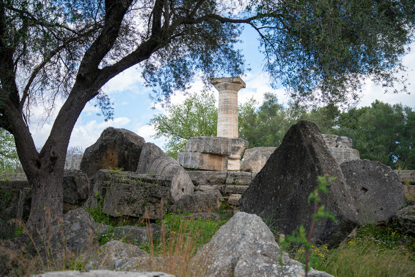
<instances>
[{"instance_id":1,"label":"light green leafy tree just left of the standing column","mask_svg":"<svg viewBox=\"0 0 415 277\"><path fill-rule=\"evenodd\" d=\"M155 115L148 125L153 126L156 134L152 137L166 137L166 154L177 158L178 152L186 150L190 137L216 136L217 107L215 96L207 90L190 94L179 105L168 105L167 114Z\"/></svg>"}]
</instances>

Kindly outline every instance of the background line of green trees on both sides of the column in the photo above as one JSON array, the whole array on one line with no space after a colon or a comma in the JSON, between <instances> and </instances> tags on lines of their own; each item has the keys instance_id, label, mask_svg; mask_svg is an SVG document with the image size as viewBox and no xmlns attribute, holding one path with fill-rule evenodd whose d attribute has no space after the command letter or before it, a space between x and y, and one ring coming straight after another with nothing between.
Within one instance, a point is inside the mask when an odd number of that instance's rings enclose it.
<instances>
[{"instance_id":1,"label":"background line of green trees on both sides of the column","mask_svg":"<svg viewBox=\"0 0 415 277\"><path fill-rule=\"evenodd\" d=\"M182 104L169 105L166 114L155 115L149 125L154 138L167 137L164 150L176 158L186 141L195 136L216 136L217 108L212 93L193 93ZM283 105L275 94L264 93L264 102L251 98L238 108L239 137L252 147L278 147L298 120L316 123L322 133L347 136L361 159L378 160L393 169L415 169L415 109L374 101L370 107L340 111L336 105L304 108Z\"/></svg>"}]
</instances>

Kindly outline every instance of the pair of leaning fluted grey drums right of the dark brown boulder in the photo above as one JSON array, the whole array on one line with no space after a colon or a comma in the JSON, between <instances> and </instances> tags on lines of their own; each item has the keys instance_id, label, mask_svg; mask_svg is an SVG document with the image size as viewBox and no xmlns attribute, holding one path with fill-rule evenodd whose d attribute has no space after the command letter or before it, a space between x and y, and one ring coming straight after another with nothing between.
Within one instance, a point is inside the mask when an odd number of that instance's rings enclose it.
<instances>
[{"instance_id":1,"label":"pair of leaning fluted grey drums right of the dark brown boulder","mask_svg":"<svg viewBox=\"0 0 415 277\"><path fill-rule=\"evenodd\" d=\"M147 142L143 146L136 172L171 179L170 194L173 202L185 194L193 193L193 182L183 167L154 143Z\"/></svg>"}]
</instances>

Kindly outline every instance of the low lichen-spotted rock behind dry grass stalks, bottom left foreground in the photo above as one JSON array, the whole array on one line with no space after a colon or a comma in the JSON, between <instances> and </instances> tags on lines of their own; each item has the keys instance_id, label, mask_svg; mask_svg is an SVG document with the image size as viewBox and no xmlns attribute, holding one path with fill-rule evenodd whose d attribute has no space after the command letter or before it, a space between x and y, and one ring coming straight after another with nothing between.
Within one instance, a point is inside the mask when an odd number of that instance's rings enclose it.
<instances>
[{"instance_id":1,"label":"low lichen-spotted rock behind dry grass stalks, bottom left foreground","mask_svg":"<svg viewBox=\"0 0 415 277\"><path fill-rule=\"evenodd\" d=\"M111 240L88 257L85 262L85 269L116 270L123 261L125 262L131 257L139 257L147 262L150 255L138 246ZM117 273L120 274L120 272Z\"/></svg>"}]
</instances>

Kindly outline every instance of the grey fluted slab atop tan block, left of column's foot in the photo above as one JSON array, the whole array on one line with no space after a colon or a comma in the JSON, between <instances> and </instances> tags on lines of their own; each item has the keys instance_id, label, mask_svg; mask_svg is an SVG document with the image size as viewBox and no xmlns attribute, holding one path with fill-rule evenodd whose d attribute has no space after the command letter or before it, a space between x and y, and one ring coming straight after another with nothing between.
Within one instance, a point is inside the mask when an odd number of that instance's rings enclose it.
<instances>
[{"instance_id":1,"label":"grey fluted slab atop tan block, left of column's foot","mask_svg":"<svg viewBox=\"0 0 415 277\"><path fill-rule=\"evenodd\" d=\"M229 156L232 142L227 137L190 137L186 152L200 152Z\"/></svg>"}]
</instances>

